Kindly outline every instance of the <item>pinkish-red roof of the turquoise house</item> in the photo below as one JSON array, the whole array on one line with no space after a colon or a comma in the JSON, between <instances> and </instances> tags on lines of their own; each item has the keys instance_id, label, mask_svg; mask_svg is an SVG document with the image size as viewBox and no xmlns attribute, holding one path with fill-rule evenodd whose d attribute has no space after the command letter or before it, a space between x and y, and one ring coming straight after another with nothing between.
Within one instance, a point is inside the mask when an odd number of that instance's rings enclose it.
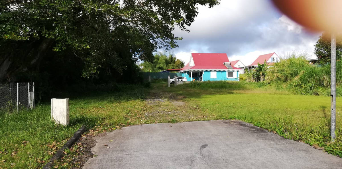
<instances>
[{"instance_id":1,"label":"pinkish-red roof of the turquoise house","mask_svg":"<svg viewBox=\"0 0 342 169\"><path fill-rule=\"evenodd\" d=\"M192 53L195 66L189 66L189 63L182 68L187 69L227 69L223 62L229 62L225 53ZM240 69L232 66L233 69Z\"/></svg>"}]
</instances>

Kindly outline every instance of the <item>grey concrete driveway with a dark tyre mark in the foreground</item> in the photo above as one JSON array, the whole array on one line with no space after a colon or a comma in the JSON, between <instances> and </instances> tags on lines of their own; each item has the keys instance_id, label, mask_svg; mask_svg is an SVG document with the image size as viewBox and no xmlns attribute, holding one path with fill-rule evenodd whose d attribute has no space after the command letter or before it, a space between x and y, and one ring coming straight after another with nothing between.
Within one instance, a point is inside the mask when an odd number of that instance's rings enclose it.
<instances>
[{"instance_id":1,"label":"grey concrete driveway with a dark tyre mark in the foreground","mask_svg":"<svg viewBox=\"0 0 342 169\"><path fill-rule=\"evenodd\" d=\"M235 120L129 126L95 140L85 169L342 168L339 157Z\"/></svg>"}]
</instances>

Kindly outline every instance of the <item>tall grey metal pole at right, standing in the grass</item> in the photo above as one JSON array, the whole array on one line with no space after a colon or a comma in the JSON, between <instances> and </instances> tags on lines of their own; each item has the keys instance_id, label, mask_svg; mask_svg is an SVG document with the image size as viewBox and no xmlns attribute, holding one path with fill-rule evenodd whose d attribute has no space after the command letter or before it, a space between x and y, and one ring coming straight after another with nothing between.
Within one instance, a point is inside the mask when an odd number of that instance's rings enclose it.
<instances>
[{"instance_id":1,"label":"tall grey metal pole at right, standing in the grass","mask_svg":"<svg viewBox=\"0 0 342 169\"><path fill-rule=\"evenodd\" d=\"M336 35L331 33L331 50L330 50L330 73L331 73L331 116L330 116L330 136L331 141L335 141L336 129Z\"/></svg>"}]
</instances>

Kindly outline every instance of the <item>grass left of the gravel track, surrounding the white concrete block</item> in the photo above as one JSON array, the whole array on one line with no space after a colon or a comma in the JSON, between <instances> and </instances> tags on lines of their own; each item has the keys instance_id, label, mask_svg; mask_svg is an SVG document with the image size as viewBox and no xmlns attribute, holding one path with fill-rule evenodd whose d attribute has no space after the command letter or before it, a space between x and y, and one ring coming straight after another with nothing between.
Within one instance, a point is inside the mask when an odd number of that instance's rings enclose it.
<instances>
[{"instance_id":1,"label":"grass left of the gravel track, surrounding the white concrete block","mask_svg":"<svg viewBox=\"0 0 342 169\"><path fill-rule=\"evenodd\" d=\"M145 88L70 99L70 125L51 121L50 103L19 112L0 112L0 168L40 168L80 126L125 126L144 105ZM56 146L52 146L55 142ZM5 160L5 161L3 161Z\"/></svg>"}]
</instances>

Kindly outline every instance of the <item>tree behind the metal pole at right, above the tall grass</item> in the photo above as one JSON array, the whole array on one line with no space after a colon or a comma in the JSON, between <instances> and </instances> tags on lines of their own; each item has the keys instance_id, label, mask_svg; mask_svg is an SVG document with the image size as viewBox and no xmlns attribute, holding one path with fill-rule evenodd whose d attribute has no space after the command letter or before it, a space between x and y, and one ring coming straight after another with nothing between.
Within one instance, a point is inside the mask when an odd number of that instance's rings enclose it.
<instances>
[{"instance_id":1,"label":"tree behind the metal pole at right, above the tall grass","mask_svg":"<svg viewBox=\"0 0 342 169\"><path fill-rule=\"evenodd\" d=\"M314 54L322 63L330 62L330 34L323 33L315 44ZM338 34L336 38L336 58L342 57L342 34Z\"/></svg>"}]
</instances>

